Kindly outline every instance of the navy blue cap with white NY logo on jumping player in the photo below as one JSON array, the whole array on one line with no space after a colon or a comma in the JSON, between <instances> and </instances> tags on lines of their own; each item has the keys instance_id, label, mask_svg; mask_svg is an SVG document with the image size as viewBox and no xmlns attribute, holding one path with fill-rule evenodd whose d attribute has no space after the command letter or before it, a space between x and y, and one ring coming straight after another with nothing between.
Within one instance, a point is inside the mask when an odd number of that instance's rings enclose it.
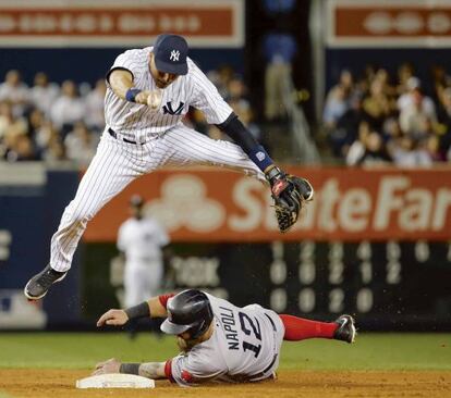
<instances>
[{"instance_id":1,"label":"navy blue cap with white NY logo on jumping player","mask_svg":"<svg viewBox=\"0 0 451 398\"><path fill-rule=\"evenodd\" d=\"M188 46L182 36L159 35L155 41L153 52L158 71L175 75L186 75Z\"/></svg>"}]
</instances>

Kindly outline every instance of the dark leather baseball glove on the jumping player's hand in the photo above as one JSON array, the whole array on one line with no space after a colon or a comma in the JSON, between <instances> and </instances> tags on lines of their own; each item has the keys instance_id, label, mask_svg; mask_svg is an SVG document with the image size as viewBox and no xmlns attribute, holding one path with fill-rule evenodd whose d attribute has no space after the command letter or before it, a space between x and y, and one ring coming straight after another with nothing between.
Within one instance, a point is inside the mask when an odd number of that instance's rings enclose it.
<instances>
[{"instance_id":1,"label":"dark leather baseball glove on the jumping player's hand","mask_svg":"<svg viewBox=\"0 0 451 398\"><path fill-rule=\"evenodd\" d=\"M297 221L304 201L310 201L314 189L307 179L285 174L278 167L266 173L275 200L276 217L281 233L288 232Z\"/></svg>"}]
</instances>

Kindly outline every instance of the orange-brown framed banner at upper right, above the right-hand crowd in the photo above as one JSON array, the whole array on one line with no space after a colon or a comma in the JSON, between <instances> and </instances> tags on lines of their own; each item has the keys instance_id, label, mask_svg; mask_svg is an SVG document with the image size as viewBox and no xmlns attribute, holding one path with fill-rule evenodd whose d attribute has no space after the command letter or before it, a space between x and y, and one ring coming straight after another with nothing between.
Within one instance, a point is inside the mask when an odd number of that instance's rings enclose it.
<instances>
[{"instance_id":1,"label":"orange-brown framed banner at upper right, above the right-hand crowd","mask_svg":"<svg viewBox=\"0 0 451 398\"><path fill-rule=\"evenodd\" d=\"M449 0L331 0L327 4L331 47L451 46Z\"/></svg>"}]
</instances>

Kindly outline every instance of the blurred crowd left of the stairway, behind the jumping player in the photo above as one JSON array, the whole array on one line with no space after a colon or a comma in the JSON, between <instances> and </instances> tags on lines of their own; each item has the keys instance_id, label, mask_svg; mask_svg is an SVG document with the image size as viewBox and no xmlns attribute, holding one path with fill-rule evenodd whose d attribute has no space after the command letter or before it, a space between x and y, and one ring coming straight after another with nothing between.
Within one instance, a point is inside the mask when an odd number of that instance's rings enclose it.
<instances>
[{"instance_id":1,"label":"blurred crowd left of the stairway, behind the jumping player","mask_svg":"<svg viewBox=\"0 0 451 398\"><path fill-rule=\"evenodd\" d=\"M209 78L258 139L242 78L229 67L209 73ZM9 71L0 84L0 161L72 161L86 167L105 127L106 89L103 78L94 87L72 80L58 85L42 72L26 85L19 71ZM195 110L185 121L212 138L227 138Z\"/></svg>"}]
</instances>

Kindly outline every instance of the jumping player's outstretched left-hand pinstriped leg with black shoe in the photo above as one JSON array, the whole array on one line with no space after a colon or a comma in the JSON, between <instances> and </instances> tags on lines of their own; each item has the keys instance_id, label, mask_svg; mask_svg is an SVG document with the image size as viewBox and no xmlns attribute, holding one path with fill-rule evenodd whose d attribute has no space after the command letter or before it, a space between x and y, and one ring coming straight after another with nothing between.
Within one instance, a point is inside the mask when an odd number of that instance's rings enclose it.
<instances>
[{"instance_id":1,"label":"jumping player's outstretched left-hand pinstriped leg with black shoe","mask_svg":"<svg viewBox=\"0 0 451 398\"><path fill-rule=\"evenodd\" d=\"M144 173L144 169L133 162L133 151L143 149L103 134L75 198L65 208L58 231L51 238L49 264L25 286L24 294L28 299L40 299L53 283L64 278L88 221Z\"/></svg>"}]
</instances>

